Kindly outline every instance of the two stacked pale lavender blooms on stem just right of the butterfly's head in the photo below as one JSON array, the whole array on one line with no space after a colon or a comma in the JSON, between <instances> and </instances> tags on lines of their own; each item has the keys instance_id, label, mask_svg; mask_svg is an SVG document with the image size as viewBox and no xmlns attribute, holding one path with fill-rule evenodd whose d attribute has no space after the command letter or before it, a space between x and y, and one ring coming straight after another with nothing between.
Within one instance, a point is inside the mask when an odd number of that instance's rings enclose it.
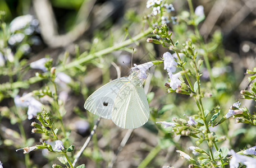
<instances>
[{"instance_id":1,"label":"two stacked pale lavender blooms on stem just right of the butterfly's head","mask_svg":"<svg viewBox=\"0 0 256 168\"><path fill-rule=\"evenodd\" d=\"M181 81L179 80L179 77L181 76L181 73L178 72L176 74L172 74L176 71L177 62L173 58L172 54L169 52L166 52L163 54L163 63L164 63L164 69L168 72L168 75L170 77L170 87L172 90L176 90L178 86L181 85Z\"/></svg>"}]
</instances>

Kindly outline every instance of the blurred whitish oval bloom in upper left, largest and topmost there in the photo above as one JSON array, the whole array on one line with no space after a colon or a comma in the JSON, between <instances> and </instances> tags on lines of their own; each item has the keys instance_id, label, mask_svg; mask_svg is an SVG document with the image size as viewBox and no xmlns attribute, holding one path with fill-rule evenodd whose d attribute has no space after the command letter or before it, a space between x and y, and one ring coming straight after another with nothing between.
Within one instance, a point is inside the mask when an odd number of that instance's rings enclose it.
<instances>
[{"instance_id":1,"label":"blurred whitish oval bloom in upper left, largest and topmost there","mask_svg":"<svg viewBox=\"0 0 256 168\"><path fill-rule=\"evenodd\" d=\"M24 29L26 26L30 25L33 21L32 15L24 15L16 17L10 23L10 31L15 32L16 30Z\"/></svg>"}]
</instances>

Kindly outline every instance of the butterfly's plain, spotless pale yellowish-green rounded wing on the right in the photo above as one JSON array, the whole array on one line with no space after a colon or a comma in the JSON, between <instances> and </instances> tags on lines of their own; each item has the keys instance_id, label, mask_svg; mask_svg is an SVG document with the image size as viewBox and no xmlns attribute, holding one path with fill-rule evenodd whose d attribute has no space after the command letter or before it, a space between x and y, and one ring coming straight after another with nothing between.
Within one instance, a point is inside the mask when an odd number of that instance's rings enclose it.
<instances>
[{"instance_id":1,"label":"butterfly's plain, spotless pale yellowish-green rounded wing on the right","mask_svg":"<svg viewBox=\"0 0 256 168\"><path fill-rule=\"evenodd\" d=\"M126 82L119 90L112 111L113 122L121 128L141 127L149 118L147 96L142 87Z\"/></svg>"}]
</instances>

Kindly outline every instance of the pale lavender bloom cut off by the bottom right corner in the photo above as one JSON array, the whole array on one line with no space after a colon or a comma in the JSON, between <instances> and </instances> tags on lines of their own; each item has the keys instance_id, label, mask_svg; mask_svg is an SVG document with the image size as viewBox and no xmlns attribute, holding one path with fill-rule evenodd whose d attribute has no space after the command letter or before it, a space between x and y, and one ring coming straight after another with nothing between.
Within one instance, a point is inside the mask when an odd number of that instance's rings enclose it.
<instances>
[{"instance_id":1,"label":"pale lavender bloom cut off by the bottom right corner","mask_svg":"<svg viewBox=\"0 0 256 168\"><path fill-rule=\"evenodd\" d=\"M237 154L234 150L230 150L230 155L232 155L230 168L239 167L239 163L246 165L248 168L256 168L255 158Z\"/></svg>"}]
</instances>

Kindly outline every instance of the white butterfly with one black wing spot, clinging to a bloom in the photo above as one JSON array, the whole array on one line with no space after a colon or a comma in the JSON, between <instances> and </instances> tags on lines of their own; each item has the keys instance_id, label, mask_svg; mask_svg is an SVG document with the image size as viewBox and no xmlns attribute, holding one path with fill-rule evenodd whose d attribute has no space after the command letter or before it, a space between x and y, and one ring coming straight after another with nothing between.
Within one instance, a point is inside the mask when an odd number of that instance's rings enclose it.
<instances>
[{"instance_id":1,"label":"white butterfly with one black wing spot, clinging to a bloom","mask_svg":"<svg viewBox=\"0 0 256 168\"><path fill-rule=\"evenodd\" d=\"M138 72L113 80L93 92L84 108L121 128L134 129L148 122L149 105Z\"/></svg>"}]
</instances>

